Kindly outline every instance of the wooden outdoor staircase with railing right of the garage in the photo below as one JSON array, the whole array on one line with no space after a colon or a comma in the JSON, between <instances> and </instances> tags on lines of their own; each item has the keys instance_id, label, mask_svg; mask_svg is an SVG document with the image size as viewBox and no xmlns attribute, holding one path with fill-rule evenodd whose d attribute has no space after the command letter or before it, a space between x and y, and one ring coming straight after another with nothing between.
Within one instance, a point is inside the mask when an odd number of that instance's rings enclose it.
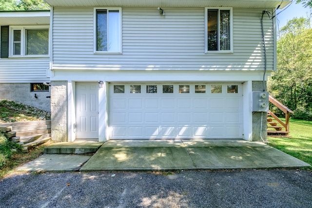
<instances>
[{"instance_id":1,"label":"wooden outdoor staircase with railing right of the garage","mask_svg":"<svg viewBox=\"0 0 312 208\"><path fill-rule=\"evenodd\" d=\"M289 135L289 118L290 113L293 113L293 111L288 109L271 95L269 96L269 101L285 113L285 122L280 120L274 113L269 111L267 116L267 135L272 137L291 137Z\"/></svg>"}]
</instances>

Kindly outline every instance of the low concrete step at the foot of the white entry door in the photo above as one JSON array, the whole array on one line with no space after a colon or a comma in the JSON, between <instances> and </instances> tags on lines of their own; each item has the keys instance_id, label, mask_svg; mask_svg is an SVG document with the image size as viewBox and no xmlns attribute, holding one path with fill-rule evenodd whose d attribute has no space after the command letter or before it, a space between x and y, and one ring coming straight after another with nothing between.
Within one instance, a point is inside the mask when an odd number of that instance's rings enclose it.
<instances>
[{"instance_id":1,"label":"low concrete step at the foot of the white entry door","mask_svg":"<svg viewBox=\"0 0 312 208\"><path fill-rule=\"evenodd\" d=\"M46 154L85 154L95 153L104 142L74 141L58 142L44 149Z\"/></svg>"}]
</instances>

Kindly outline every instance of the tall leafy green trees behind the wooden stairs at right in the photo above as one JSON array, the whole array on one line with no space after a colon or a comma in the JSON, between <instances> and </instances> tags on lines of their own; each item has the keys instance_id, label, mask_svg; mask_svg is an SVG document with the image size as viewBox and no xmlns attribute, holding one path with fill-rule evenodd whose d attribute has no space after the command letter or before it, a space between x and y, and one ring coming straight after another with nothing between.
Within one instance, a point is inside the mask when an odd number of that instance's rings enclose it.
<instances>
[{"instance_id":1,"label":"tall leafy green trees behind the wooden stairs at right","mask_svg":"<svg viewBox=\"0 0 312 208\"><path fill-rule=\"evenodd\" d=\"M312 28L310 18L294 18L279 31L277 71L269 78L271 95L312 120Z\"/></svg>"}]
</instances>

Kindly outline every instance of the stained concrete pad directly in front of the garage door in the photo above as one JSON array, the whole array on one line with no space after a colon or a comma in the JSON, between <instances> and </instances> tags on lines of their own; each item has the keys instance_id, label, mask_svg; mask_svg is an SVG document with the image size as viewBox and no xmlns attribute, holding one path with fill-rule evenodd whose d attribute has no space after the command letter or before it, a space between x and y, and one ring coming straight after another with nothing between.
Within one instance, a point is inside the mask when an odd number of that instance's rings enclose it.
<instances>
[{"instance_id":1,"label":"stained concrete pad directly in front of the garage door","mask_svg":"<svg viewBox=\"0 0 312 208\"><path fill-rule=\"evenodd\" d=\"M245 140L110 140L80 169L191 170L298 168L309 164Z\"/></svg>"}]
</instances>

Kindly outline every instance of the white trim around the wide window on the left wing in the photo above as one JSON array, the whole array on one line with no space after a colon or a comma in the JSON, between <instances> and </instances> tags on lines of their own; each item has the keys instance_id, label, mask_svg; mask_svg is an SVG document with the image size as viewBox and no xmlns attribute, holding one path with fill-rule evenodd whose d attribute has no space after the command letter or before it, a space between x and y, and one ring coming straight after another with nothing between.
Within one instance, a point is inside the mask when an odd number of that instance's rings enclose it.
<instances>
[{"instance_id":1,"label":"white trim around the wide window on the left wing","mask_svg":"<svg viewBox=\"0 0 312 208\"><path fill-rule=\"evenodd\" d=\"M25 46L26 46L26 30L29 29L46 29L50 30L48 25L45 26L37 26L37 25L23 25L23 26L10 26L9 29L9 58L20 58L20 57L49 57L49 54L46 55L26 55ZM14 30L20 30L20 55L13 55L13 42L14 42ZM50 39L50 32L49 32ZM50 53L50 41L49 41L49 49L48 53Z\"/></svg>"}]
</instances>

